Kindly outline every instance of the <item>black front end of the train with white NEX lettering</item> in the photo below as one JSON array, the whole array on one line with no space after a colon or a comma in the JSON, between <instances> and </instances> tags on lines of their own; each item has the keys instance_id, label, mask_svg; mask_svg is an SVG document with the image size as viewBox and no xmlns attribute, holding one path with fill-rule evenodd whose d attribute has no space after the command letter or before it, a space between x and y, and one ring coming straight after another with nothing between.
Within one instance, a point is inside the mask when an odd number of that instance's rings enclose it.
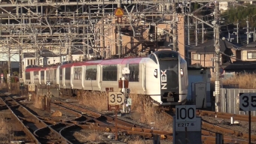
<instances>
[{"instance_id":1,"label":"black front end of the train with white NEX lettering","mask_svg":"<svg viewBox=\"0 0 256 144\"><path fill-rule=\"evenodd\" d=\"M187 101L187 62L178 52L154 52L159 65L161 106L184 104Z\"/></svg>"}]
</instances>

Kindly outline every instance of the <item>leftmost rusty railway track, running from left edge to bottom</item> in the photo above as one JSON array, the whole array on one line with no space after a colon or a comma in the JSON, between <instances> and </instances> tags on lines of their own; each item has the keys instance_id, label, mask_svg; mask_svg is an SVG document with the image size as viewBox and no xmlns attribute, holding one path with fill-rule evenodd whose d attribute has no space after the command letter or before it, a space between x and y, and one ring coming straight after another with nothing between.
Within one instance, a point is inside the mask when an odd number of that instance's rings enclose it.
<instances>
[{"instance_id":1,"label":"leftmost rusty railway track, running from left edge to bottom","mask_svg":"<svg viewBox=\"0 0 256 144\"><path fill-rule=\"evenodd\" d=\"M2 96L1 100L20 124L23 124L25 132L34 139L35 143L71 143L59 133L58 129L61 125L53 127L50 123L44 122L8 95Z\"/></svg>"}]
</instances>

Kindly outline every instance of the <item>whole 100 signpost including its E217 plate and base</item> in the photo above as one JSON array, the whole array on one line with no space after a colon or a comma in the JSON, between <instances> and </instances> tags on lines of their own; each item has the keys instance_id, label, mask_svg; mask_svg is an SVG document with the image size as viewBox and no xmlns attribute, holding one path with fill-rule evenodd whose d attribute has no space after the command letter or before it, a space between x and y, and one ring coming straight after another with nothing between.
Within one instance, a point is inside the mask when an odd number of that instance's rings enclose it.
<instances>
[{"instance_id":1,"label":"whole 100 signpost including its E217 plate and base","mask_svg":"<svg viewBox=\"0 0 256 144\"><path fill-rule=\"evenodd\" d=\"M174 138L173 143L202 143L201 118L197 117L195 105L181 105L175 107L175 118L173 121Z\"/></svg>"}]
</instances>

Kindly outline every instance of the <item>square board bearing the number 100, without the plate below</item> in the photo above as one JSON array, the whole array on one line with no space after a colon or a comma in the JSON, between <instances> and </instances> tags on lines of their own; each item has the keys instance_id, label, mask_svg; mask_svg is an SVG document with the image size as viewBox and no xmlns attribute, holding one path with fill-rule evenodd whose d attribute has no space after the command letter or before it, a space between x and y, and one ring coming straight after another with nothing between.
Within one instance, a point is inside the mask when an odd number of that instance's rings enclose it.
<instances>
[{"instance_id":1,"label":"square board bearing the number 100, without the plate below","mask_svg":"<svg viewBox=\"0 0 256 144\"><path fill-rule=\"evenodd\" d=\"M195 122L197 118L196 105L175 107L175 122Z\"/></svg>"}]
</instances>

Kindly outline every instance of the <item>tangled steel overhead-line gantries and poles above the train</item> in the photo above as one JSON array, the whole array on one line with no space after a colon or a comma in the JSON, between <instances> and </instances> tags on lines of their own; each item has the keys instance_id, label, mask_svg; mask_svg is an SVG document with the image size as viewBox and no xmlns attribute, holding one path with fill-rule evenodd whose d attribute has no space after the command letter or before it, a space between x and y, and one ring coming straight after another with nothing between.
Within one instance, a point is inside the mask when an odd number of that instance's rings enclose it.
<instances>
[{"instance_id":1,"label":"tangled steel overhead-line gantries and poles above the train","mask_svg":"<svg viewBox=\"0 0 256 144\"><path fill-rule=\"evenodd\" d=\"M62 55L67 55L67 61L72 60L72 54L75 52L80 52L84 58L89 58L90 53L93 53L93 56L110 58L111 55L138 52L135 49L139 49L139 45L145 43L157 49L158 40L172 37L172 42L169 40L169 43L174 50L179 51L178 43L181 42L178 41L177 36L178 3L201 2L205 7L206 3L217 4L219 1L223 0L2 0L0 1L0 46L2 52L8 53L9 68L11 55L15 53L22 55L23 52L32 52L36 64L39 65L39 57L43 49L56 53L60 60ZM117 19L114 17L114 10L117 7L122 7L124 10L120 24L117 24ZM210 24L194 16L193 11L189 10L186 13L182 10L182 13L215 29L218 57L218 19L215 19L215 24ZM215 13L217 13L215 18L218 18L217 8ZM116 30L117 26L120 26L120 31ZM153 31L151 26L154 26ZM158 34L160 32L157 30L158 27L163 29L164 34ZM124 36L128 36L128 40L124 40ZM120 43L121 50L117 49ZM20 62L21 60L22 56ZM218 72L219 58L215 60ZM219 90L218 80L216 80L216 89ZM219 95L219 92L215 94Z\"/></svg>"}]
</instances>

